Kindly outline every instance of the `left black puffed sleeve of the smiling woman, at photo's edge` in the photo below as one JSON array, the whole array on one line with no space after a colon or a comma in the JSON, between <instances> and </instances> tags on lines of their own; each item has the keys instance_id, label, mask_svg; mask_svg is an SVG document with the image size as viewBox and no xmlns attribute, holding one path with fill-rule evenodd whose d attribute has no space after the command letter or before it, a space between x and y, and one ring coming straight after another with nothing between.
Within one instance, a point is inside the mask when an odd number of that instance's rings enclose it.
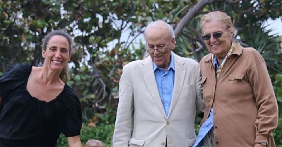
<instances>
[{"instance_id":1,"label":"left black puffed sleeve of the smiling woman, at photo's edge","mask_svg":"<svg viewBox=\"0 0 282 147\"><path fill-rule=\"evenodd\" d=\"M16 64L7 70L7 72L0 77L0 96L3 101L9 98L9 95L22 82L27 80L32 66L29 64Z\"/></svg>"}]
</instances>

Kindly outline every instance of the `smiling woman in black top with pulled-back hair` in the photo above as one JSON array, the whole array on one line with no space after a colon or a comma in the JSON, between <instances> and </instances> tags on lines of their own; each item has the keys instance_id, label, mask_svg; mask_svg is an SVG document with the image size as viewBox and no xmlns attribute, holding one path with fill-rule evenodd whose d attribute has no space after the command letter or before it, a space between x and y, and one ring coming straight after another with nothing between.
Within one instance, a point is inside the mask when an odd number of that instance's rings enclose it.
<instances>
[{"instance_id":1,"label":"smiling woman in black top with pulled-back hair","mask_svg":"<svg viewBox=\"0 0 282 147\"><path fill-rule=\"evenodd\" d=\"M65 84L71 37L54 31L43 39L43 67L18 64L0 78L0 146L55 146L60 133L82 146L82 115Z\"/></svg>"}]
</instances>

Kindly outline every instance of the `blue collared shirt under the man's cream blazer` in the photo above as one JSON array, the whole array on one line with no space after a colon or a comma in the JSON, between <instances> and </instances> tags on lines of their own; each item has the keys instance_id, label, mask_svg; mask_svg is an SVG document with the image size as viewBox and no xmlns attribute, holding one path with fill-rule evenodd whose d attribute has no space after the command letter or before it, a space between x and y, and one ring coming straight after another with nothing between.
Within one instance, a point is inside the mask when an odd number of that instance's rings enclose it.
<instances>
[{"instance_id":1,"label":"blue collared shirt under the man's cream blazer","mask_svg":"<svg viewBox=\"0 0 282 147\"><path fill-rule=\"evenodd\" d=\"M162 68L158 67L153 62L153 69L155 74L155 79L157 82L157 87L159 90L159 96L161 97L161 102L163 104L163 108L165 109L166 116L168 115L171 97L173 93L173 85L174 85L174 58L171 54L170 64L166 71Z\"/></svg>"}]
</instances>

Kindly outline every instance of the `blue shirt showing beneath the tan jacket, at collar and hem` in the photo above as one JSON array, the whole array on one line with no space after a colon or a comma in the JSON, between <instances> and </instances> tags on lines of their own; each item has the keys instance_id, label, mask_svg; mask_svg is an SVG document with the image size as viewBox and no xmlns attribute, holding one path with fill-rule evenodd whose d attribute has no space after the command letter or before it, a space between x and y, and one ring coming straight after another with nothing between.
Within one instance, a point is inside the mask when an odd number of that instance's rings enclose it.
<instances>
[{"instance_id":1,"label":"blue shirt showing beneath the tan jacket, at collar and hem","mask_svg":"<svg viewBox=\"0 0 282 147\"><path fill-rule=\"evenodd\" d=\"M220 65L217 62L217 58L215 56L213 56L213 65L215 71L217 71ZM193 145L193 147L200 147L204 144L204 137L208 134L208 132L210 131L210 129L212 129L212 127L213 127L213 108L211 108L210 115L207 118L207 120L200 127L196 142Z\"/></svg>"}]
</instances>

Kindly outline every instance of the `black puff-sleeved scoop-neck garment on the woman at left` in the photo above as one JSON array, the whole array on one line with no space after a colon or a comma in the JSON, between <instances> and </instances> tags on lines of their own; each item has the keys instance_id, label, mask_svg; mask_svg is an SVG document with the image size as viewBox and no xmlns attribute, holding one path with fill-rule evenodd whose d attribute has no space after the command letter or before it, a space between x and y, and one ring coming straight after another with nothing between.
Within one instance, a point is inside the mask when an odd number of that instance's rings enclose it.
<instances>
[{"instance_id":1,"label":"black puff-sleeved scoop-neck garment on the woman at left","mask_svg":"<svg viewBox=\"0 0 282 147\"><path fill-rule=\"evenodd\" d=\"M55 146L60 133L80 134L82 115L74 91L65 85L54 100L38 100L26 89L31 70L29 64L18 64L0 78L0 146Z\"/></svg>"}]
</instances>

